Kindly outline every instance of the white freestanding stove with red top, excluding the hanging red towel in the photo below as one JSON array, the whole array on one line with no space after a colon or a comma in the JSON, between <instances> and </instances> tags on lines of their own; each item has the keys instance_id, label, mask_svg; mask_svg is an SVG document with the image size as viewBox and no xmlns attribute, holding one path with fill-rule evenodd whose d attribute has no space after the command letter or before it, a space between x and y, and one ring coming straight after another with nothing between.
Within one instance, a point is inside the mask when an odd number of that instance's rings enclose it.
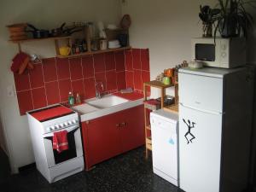
<instances>
[{"instance_id":1,"label":"white freestanding stove with red top, excluding the hanging red towel","mask_svg":"<svg viewBox=\"0 0 256 192\"><path fill-rule=\"evenodd\" d=\"M84 170L78 113L58 104L27 112L27 118L37 169L49 183ZM53 136L63 130L68 149L58 153L53 149Z\"/></svg>"}]
</instances>

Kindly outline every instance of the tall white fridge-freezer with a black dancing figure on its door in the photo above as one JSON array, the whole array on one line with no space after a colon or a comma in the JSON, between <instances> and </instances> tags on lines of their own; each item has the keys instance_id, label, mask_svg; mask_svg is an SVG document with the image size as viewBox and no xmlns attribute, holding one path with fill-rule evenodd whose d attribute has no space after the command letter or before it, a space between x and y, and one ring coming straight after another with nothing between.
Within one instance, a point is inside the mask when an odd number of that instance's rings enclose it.
<instances>
[{"instance_id":1,"label":"tall white fridge-freezer with a black dancing figure on its door","mask_svg":"<svg viewBox=\"0 0 256 192\"><path fill-rule=\"evenodd\" d=\"M179 70L180 188L186 192L241 192L247 187L251 71Z\"/></svg>"}]
</instances>

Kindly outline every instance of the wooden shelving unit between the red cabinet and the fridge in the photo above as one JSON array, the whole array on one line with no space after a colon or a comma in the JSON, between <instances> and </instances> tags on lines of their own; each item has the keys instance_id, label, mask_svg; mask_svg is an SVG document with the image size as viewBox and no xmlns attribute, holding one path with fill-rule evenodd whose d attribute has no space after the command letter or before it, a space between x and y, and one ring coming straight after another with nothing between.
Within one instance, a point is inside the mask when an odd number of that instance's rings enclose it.
<instances>
[{"instance_id":1,"label":"wooden shelving unit between the red cabinet and the fridge","mask_svg":"<svg viewBox=\"0 0 256 192\"><path fill-rule=\"evenodd\" d=\"M143 93L144 93L144 102L147 102L148 94L147 94L147 87L154 87L158 88L161 91L161 101L160 101L160 108L164 108L164 99L166 96L166 88L174 86L174 84L163 84L159 81L149 81L143 84ZM150 108L151 109L151 108ZM148 118L148 108L144 105L144 121L145 121L145 140L146 140L146 158L148 159L148 150L152 150L152 142L151 142L151 126L149 123Z\"/></svg>"}]
</instances>

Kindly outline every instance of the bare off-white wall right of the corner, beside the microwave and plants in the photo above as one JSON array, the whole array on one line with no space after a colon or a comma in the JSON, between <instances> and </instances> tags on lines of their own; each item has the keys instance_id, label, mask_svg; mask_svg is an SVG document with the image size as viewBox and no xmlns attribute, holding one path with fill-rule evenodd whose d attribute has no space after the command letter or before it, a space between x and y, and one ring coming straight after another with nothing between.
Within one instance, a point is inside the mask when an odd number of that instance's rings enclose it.
<instances>
[{"instance_id":1,"label":"bare off-white wall right of the corner, beside the microwave and plants","mask_svg":"<svg viewBox=\"0 0 256 192\"><path fill-rule=\"evenodd\" d=\"M217 3L217 0L125 0L122 3L122 14L131 15L131 45L149 48L151 79L165 68L190 61L190 39L202 35L199 7L201 4L213 7ZM251 48L255 48L255 37L254 32L249 41ZM253 52L254 49L248 49L250 62L256 61ZM153 96L159 95L157 90L152 92Z\"/></svg>"}]
</instances>

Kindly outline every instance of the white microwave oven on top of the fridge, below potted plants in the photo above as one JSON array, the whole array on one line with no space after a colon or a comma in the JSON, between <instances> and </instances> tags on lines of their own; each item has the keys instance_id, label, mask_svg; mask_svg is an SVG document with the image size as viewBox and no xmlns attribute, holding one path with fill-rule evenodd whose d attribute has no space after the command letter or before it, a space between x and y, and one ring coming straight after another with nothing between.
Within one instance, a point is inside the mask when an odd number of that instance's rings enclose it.
<instances>
[{"instance_id":1,"label":"white microwave oven on top of the fridge, below potted plants","mask_svg":"<svg viewBox=\"0 0 256 192\"><path fill-rule=\"evenodd\" d=\"M205 66L234 68L246 64L245 38L192 38L192 60Z\"/></svg>"}]
</instances>

